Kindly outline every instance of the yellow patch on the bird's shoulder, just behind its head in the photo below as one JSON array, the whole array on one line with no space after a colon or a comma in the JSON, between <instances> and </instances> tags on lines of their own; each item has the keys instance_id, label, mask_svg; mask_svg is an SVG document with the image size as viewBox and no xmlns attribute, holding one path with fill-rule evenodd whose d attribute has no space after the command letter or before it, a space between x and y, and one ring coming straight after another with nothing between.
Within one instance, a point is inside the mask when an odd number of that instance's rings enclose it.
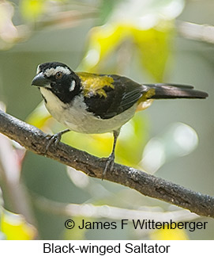
<instances>
[{"instance_id":1,"label":"yellow patch on the bird's shoulder, just behind its head","mask_svg":"<svg viewBox=\"0 0 214 256\"><path fill-rule=\"evenodd\" d=\"M81 78L84 97L92 97L98 94L100 97L107 97L104 86L109 86L112 89L115 88L113 85L114 79L108 75L97 75L86 72L77 72L77 75Z\"/></svg>"}]
</instances>

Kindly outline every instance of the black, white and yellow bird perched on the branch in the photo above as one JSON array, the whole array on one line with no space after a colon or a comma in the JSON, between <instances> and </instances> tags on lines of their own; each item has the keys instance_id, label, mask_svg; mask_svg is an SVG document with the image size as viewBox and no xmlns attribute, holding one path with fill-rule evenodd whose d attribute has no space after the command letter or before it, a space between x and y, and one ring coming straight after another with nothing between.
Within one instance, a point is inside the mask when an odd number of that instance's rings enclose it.
<instances>
[{"instance_id":1,"label":"black, white and yellow bird perched on the branch","mask_svg":"<svg viewBox=\"0 0 214 256\"><path fill-rule=\"evenodd\" d=\"M193 86L134 82L121 75L74 72L59 62L39 64L32 86L39 87L51 116L66 130L51 136L57 144L62 134L74 131L87 134L113 132L114 143L103 170L112 171L115 163L115 146L120 129L137 111L144 110L154 99L206 98L204 91Z\"/></svg>"}]
</instances>

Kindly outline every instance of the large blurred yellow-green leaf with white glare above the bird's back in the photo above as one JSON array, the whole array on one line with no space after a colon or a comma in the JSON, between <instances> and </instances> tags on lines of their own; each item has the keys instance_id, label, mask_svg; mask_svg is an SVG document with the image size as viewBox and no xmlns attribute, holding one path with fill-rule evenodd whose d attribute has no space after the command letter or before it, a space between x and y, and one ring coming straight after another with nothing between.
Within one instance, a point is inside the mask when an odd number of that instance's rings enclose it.
<instances>
[{"instance_id":1,"label":"large blurred yellow-green leaf with white glare above the bird's back","mask_svg":"<svg viewBox=\"0 0 214 256\"><path fill-rule=\"evenodd\" d=\"M107 23L90 31L88 48L78 69L106 72L109 63L115 66L112 59L115 63L121 59L120 49L128 45L122 58L126 67L130 59L126 53L136 50L141 67L162 82L175 36L174 20L182 12L184 1L126 0L112 7ZM122 67L119 61L117 64Z\"/></svg>"}]
</instances>

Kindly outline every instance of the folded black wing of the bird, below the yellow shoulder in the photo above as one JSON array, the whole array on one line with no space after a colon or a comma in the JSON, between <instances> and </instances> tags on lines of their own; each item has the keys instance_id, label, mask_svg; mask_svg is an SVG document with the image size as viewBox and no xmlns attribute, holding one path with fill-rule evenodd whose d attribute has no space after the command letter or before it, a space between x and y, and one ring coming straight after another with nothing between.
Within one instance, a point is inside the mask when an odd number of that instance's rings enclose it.
<instances>
[{"instance_id":1,"label":"folded black wing of the bird, below the yellow shoulder","mask_svg":"<svg viewBox=\"0 0 214 256\"><path fill-rule=\"evenodd\" d=\"M119 75L110 75L110 77L114 80L113 86L103 86L106 97L99 94L84 97L88 111L103 119L115 117L126 109L130 109L142 96L144 90L148 90L129 78Z\"/></svg>"}]
</instances>

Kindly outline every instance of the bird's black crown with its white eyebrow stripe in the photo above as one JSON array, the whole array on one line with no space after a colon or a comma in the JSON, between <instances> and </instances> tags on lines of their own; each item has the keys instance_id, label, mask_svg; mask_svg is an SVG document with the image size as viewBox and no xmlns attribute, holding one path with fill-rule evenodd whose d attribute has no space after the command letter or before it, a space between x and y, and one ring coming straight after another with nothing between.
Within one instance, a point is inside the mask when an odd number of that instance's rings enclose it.
<instances>
[{"instance_id":1,"label":"bird's black crown with its white eyebrow stripe","mask_svg":"<svg viewBox=\"0 0 214 256\"><path fill-rule=\"evenodd\" d=\"M62 74L69 75L72 71L66 64L63 63L43 63L37 67L36 74L43 72L43 75L47 77L51 77L52 75L56 75L58 72L62 72Z\"/></svg>"}]
</instances>

